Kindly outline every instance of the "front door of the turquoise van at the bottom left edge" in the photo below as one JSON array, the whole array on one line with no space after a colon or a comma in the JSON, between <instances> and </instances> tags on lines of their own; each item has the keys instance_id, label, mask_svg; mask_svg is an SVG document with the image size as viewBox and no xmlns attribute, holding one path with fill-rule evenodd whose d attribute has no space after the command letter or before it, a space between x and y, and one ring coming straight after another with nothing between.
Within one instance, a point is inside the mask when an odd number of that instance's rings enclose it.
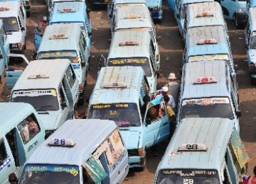
<instances>
[{"instance_id":1,"label":"front door of the turquoise van at the bottom left edge","mask_svg":"<svg viewBox=\"0 0 256 184\"><path fill-rule=\"evenodd\" d=\"M16 171L14 156L5 137L0 138L0 183L8 183L9 173Z\"/></svg>"}]
</instances>

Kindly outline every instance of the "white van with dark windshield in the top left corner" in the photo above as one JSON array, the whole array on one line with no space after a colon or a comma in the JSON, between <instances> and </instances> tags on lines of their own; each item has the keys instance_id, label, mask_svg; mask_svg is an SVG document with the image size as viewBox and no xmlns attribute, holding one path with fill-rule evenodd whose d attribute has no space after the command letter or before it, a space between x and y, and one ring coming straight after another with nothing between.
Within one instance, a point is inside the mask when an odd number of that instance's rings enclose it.
<instances>
[{"instance_id":1,"label":"white van with dark windshield in the top left corner","mask_svg":"<svg viewBox=\"0 0 256 184\"><path fill-rule=\"evenodd\" d=\"M10 52L22 54L26 50L26 9L19 1L1 1L0 7Z\"/></svg>"}]
</instances>

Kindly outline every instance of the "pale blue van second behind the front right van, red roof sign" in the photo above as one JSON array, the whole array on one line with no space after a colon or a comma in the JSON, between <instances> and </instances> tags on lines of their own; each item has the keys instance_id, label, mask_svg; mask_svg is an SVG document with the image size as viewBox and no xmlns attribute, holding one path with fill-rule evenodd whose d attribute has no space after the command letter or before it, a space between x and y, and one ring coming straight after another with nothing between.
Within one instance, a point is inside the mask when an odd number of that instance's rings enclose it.
<instances>
[{"instance_id":1,"label":"pale blue van second behind the front right van, red roof sign","mask_svg":"<svg viewBox=\"0 0 256 184\"><path fill-rule=\"evenodd\" d=\"M204 60L224 60L235 80L230 42L223 25L194 27L186 31L183 64Z\"/></svg>"}]
</instances>

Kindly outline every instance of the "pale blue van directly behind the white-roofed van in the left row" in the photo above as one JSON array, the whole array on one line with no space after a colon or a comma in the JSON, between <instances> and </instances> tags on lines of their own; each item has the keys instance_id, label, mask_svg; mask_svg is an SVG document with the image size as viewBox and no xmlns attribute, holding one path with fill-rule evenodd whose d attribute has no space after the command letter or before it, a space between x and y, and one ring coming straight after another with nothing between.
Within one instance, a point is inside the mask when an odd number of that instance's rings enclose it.
<instances>
[{"instance_id":1,"label":"pale blue van directly behind the white-roofed van in the left row","mask_svg":"<svg viewBox=\"0 0 256 184\"><path fill-rule=\"evenodd\" d=\"M37 59L70 59L79 81L80 100L83 99L90 51L77 24L48 25L38 49Z\"/></svg>"}]
</instances>

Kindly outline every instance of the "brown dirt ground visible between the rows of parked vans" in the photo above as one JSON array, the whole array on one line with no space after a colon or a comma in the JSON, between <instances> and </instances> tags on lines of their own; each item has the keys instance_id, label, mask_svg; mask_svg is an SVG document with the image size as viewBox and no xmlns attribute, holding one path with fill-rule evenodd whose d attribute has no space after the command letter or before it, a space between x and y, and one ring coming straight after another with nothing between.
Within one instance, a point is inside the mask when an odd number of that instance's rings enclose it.
<instances>
[{"instance_id":1,"label":"brown dirt ground visible between the rows of parked vans","mask_svg":"<svg viewBox=\"0 0 256 184\"><path fill-rule=\"evenodd\" d=\"M27 20L28 33L26 37L27 50L25 52L28 60L33 59L33 36L35 32L36 21L46 15L46 5L43 0L32 0L31 17ZM166 2L165 2L166 4ZM87 86L85 93L84 105L78 107L78 111L87 109L87 100L90 98L92 89L95 85L97 69L99 66L99 57L103 54L107 57L110 44L110 27L107 20L106 7L94 7L87 4L90 8L90 18L92 23L92 59L90 62L90 71L87 76ZM238 87L240 95L240 135L242 141L250 156L250 164L248 174L252 175L252 168L256 165L256 89L250 85L250 74L245 62L245 39L244 30L236 30L235 25L230 21L228 23L228 34L231 42L233 58L235 60L236 71L238 76ZM156 24L156 34L160 38L159 50L161 54L161 77L158 80L158 87L166 83L166 77L170 72L175 72L176 76L181 79L179 70L182 67L182 52L181 38L178 35L177 24L174 15L169 8L164 7L164 18L161 25ZM26 67L26 64L18 64L16 67ZM7 101L10 91L5 87L3 80L0 84L0 101ZM146 158L146 169L144 171L129 171L129 175L124 180L124 183L152 183L156 167L164 154L167 143L164 142L159 146L159 156Z\"/></svg>"}]
</instances>

